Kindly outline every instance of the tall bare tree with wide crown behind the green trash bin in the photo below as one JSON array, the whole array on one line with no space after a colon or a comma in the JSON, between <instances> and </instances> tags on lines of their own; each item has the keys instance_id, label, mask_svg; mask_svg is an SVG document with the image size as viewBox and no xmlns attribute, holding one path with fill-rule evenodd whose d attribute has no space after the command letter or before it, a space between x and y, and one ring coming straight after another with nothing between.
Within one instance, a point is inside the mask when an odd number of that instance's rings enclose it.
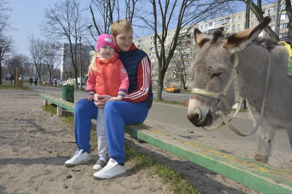
<instances>
[{"instance_id":1,"label":"tall bare tree with wide crown behind the green trash bin","mask_svg":"<svg viewBox=\"0 0 292 194\"><path fill-rule=\"evenodd\" d=\"M61 0L56 2L54 7L49 6L45 9L45 19L40 24L41 32L48 38L69 42L69 49L63 51L71 58L76 83L78 42L87 29L86 18L82 16L83 11L79 0ZM76 88L78 89L78 84Z\"/></svg>"}]
</instances>

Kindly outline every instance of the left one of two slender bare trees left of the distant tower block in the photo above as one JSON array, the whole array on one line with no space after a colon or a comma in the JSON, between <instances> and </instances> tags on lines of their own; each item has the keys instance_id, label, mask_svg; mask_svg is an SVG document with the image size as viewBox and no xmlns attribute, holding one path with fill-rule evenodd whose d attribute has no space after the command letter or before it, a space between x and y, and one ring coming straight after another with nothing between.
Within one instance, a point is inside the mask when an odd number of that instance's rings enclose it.
<instances>
[{"instance_id":1,"label":"left one of two slender bare trees left of the distant tower block","mask_svg":"<svg viewBox=\"0 0 292 194\"><path fill-rule=\"evenodd\" d=\"M28 37L29 46L28 50L30 51L31 58L35 64L39 83L42 75L42 62L44 58L45 42L39 38L35 39L33 35Z\"/></svg>"}]
</instances>

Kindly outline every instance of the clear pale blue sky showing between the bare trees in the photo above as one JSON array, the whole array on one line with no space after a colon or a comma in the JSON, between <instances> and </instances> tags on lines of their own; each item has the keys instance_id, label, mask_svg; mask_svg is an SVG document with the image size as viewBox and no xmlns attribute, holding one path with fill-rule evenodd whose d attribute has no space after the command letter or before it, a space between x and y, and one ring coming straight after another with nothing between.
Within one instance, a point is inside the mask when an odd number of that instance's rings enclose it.
<instances>
[{"instance_id":1,"label":"clear pale blue sky showing between the bare trees","mask_svg":"<svg viewBox=\"0 0 292 194\"><path fill-rule=\"evenodd\" d=\"M10 13L10 21L12 27L16 28L17 31L9 32L9 35L13 36L17 46L17 52L29 56L28 51L28 36L31 34L35 38L45 39L40 33L39 24L44 19L45 8L54 7L54 3L58 0L6 0L10 2L9 7L13 9ZM25 2L25 3L24 3ZM89 0L81 0L85 6ZM239 2L238 2L239 3ZM267 3L267 2L266 2ZM262 4L266 4L262 3ZM238 10L242 11L245 9L245 4L238 4ZM90 16L89 11L86 13ZM89 22L89 24L91 21Z\"/></svg>"}]
</instances>

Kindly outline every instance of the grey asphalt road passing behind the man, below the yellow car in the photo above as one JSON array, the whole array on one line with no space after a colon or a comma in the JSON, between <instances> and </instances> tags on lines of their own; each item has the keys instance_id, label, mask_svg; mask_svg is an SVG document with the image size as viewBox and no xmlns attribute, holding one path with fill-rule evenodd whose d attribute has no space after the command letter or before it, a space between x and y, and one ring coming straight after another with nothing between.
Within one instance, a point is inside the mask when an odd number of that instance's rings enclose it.
<instances>
[{"instance_id":1,"label":"grey asphalt road passing behind the man, below the yellow car","mask_svg":"<svg viewBox=\"0 0 292 194\"><path fill-rule=\"evenodd\" d=\"M62 97L62 88L61 87L52 87L52 86L43 86L43 85L33 85L30 86L33 90L38 91L40 93L54 95L56 97ZM153 95L155 97L156 91L153 91ZM74 91L74 101L80 98L86 97L85 91ZM185 93L167 93L165 91L162 92L162 98L168 101L175 101L175 102L183 102L185 100L189 100L190 94ZM78 101L78 100L77 100Z\"/></svg>"}]
</instances>

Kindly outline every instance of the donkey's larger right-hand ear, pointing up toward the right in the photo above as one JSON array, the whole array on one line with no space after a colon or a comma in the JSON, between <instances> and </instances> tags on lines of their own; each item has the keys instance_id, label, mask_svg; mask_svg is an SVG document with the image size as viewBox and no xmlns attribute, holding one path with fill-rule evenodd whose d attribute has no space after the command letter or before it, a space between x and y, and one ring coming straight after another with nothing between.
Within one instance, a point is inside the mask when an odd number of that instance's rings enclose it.
<instances>
[{"instance_id":1,"label":"donkey's larger right-hand ear, pointing up toward the right","mask_svg":"<svg viewBox=\"0 0 292 194\"><path fill-rule=\"evenodd\" d=\"M256 39L258 34L264 30L270 22L271 18L269 16L264 17L263 21L254 28L249 28L230 36L227 41L224 41L223 47L230 50L231 52L239 52L243 50L247 45Z\"/></svg>"}]
</instances>

